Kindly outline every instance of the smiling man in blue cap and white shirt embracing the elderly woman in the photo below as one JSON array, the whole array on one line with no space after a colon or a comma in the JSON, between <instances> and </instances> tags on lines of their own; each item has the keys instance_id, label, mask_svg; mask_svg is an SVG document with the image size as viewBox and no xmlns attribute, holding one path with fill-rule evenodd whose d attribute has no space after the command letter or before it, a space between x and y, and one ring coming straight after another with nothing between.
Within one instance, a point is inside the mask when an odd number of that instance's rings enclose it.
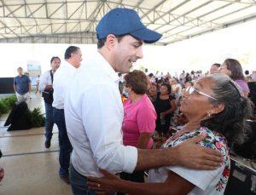
<instances>
[{"instance_id":1,"label":"smiling man in blue cap and white shirt embracing the elderly woman","mask_svg":"<svg viewBox=\"0 0 256 195\"><path fill-rule=\"evenodd\" d=\"M67 134L73 146L73 193L95 194L88 188L87 177L102 176L99 168L113 173L176 164L216 169L222 162L220 153L195 144L206 136L165 150L122 144L124 110L116 72L130 72L133 63L143 58L143 43L154 43L161 35L146 28L134 10L119 8L103 16L96 32L98 52L79 67L64 103Z\"/></svg>"}]
</instances>

